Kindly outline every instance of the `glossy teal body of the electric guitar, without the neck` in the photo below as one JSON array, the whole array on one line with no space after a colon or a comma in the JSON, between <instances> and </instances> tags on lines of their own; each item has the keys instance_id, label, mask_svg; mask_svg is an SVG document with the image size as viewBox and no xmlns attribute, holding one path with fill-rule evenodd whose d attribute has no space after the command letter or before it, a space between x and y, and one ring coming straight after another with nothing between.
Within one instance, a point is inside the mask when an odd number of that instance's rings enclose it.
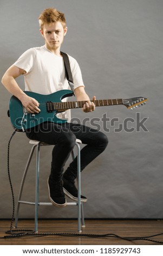
<instances>
[{"instance_id":1,"label":"glossy teal body of the electric guitar, without the neck","mask_svg":"<svg viewBox=\"0 0 163 256\"><path fill-rule=\"evenodd\" d=\"M66 123L66 119L59 119L56 117L57 110L47 109L47 102L61 102L62 99L68 96L72 96L73 92L71 90L60 90L53 94L42 95L33 92L25 92L30 97L36 99L41 109L40 113L31 114L27 112L27 109L22 106L21 101L17 99L17 97L12 96L9 101L9 111L10 111L10 119L11 124L18 130L26 130L36 125L43 123L44 121L51 121L53 123Z\"/></svg>"}]
</instances>

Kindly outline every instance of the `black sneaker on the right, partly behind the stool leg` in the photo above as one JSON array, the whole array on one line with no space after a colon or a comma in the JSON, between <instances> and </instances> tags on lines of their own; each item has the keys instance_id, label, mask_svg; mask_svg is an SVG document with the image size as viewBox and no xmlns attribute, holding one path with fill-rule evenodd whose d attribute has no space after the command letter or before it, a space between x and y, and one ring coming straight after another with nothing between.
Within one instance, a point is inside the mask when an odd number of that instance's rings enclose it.
<instances>
[{"instance_id":1,"label":"black sneaker on the right, partly behind the stool leg","mask_svg":"<svg viewBox=\"0 0 163 256\"><path fill-rule=\"evenodd\" d=\"M75 181L66 180L63 178L63 192L70 199L78 201L77 188L75 187ZM81 195L81 202L87 202L87 197Z\"/></svg>"}]
</instances>

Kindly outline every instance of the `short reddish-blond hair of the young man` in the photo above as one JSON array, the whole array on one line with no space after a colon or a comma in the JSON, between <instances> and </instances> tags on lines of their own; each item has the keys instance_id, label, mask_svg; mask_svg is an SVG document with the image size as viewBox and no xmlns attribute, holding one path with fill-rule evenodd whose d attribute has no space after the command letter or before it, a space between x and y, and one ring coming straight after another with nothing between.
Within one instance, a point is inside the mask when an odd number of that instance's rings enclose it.
<instances>
[{"instance_id":1,"label":"short reddish-blond hair of the young man","mask_svg":"<svg viewBox=\"0 0 163 256\"><path fill-rule=\"evenodd\" d=\"M58 11L55 8L44 9L43 12L38 17L38 21L40 24L40 28L43 30L43 25L45 23L50 24L53 22L60 21L62 23L63 28L66 28L66 19L64 17L64 13Z\"/></svg>"}]
</instances>

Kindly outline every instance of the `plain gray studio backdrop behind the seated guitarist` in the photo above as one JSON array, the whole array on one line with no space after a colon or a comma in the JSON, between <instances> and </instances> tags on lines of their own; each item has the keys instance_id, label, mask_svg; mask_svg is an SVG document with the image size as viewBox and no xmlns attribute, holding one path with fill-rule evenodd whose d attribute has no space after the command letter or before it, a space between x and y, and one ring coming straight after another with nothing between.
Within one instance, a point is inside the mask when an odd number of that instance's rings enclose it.
<instances>
[{"instance_id":1,"label":"plain gray studio backdrop behind the seated guitarist","mask_svg":"<svg viewBox=\"0 0 163 256\"><path fill-rule=\"evenodd\" d=\"M85 216L162 218L163 1L1 0L1 77L25 50L44 44L37 18L49 7L66 14L68 33L62 51L78 60L90 97L148 98L146 106L135 111L125 106L99 107L89 114L73 110L73 117L100 127L109 138L106 151L82 173L82 193L88 197ZM23 88L23 78L17 81ZM1 218L12 213L7 174L7 146L13 131L6 115L9 99L1 86ZM15 199L30 148L25 134L16 133L10 148ZM51 149L41 150L41 200L49 200ZM24 197L29 199L34 198L34 172L35 159L25 184ZM39 211L43 218L76 215L73 207L41 206ZM34 208L23 205L20 217L34 217Z\"/></svg>"}]
</instances>

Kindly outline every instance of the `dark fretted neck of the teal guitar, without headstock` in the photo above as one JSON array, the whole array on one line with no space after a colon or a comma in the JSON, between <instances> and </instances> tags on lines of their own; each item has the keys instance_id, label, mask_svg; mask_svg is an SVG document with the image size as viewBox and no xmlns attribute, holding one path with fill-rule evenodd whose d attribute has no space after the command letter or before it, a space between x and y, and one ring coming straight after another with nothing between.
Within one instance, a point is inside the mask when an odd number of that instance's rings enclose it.
<instances>
[{"instance_id":1,"label":"dark fretted neck of the teal guitar, without headstock","mask_svg":"<svg viewBox=\"0 0 163 256\"><path fill-rule=\"evenodd\" d=\"M87 101L69 101L69 102L53 102L53 107L56 110L70 109L70 108L82 108ZM96 107L123 105L122 99L110 99L110 100L91 100Z\"/></svg>"}]
</instances>

